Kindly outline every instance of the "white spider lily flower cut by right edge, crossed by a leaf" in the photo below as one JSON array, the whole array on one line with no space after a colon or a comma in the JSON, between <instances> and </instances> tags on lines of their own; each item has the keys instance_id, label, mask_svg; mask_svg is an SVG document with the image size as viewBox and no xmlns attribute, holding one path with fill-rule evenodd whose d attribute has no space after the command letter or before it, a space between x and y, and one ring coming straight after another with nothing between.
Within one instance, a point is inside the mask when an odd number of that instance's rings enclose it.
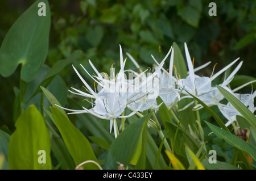
<instances>
[{"instance_id":1,"label":"white spider lily flower cut by right edge, crossed by a leaf","mask_svg":"<svg viewBox=\"0 0 256 181\"><path fill-rule=\"evenodd\" d=\"M251 112L254 112L256 108L254 107L254 98L256 96L256 91L254 91L253 94L233 94L236 96L237 99L239 99ZM234 121L237 121L236 116L241 115L240 112L234 108L234 106L228 102L228 104L224 106L218 106L220 112L222 115L228 119L228 122L225 124L226 127L228 127L230 124L232 124Z\"/></svg>"}]
</instances>

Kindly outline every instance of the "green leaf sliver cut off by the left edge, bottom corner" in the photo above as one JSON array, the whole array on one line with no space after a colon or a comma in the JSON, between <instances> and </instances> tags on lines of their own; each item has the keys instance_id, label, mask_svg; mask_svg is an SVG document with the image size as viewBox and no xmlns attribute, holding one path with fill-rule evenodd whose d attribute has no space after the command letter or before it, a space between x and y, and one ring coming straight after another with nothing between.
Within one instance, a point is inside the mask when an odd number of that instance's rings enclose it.
<instances>
[{"instance_id":1,"label":"green leaf sliver cut off by the left edge, bottom corner","mask_svg":"<svg viewBox=\"0 0 256 181\"><path fill-rule=\"evenodd\" d=\"M2 128L2 127L1 127ZM6 132L0 130L0 155L3 157L2 167L0 166L0 170L7 170L8 167L8 148L11 136Z\"/></svg>"}]
</instances>

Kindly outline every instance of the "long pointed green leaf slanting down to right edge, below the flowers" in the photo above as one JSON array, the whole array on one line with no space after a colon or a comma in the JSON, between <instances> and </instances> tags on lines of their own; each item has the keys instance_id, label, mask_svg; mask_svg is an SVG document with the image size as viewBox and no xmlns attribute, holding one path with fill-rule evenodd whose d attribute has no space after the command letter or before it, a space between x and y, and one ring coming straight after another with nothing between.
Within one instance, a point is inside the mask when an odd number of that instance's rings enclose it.
<instances>
[{"instance_id":1,"label":"long pointed green leaf slanting down to right edge, below the flowers","mask_svg":"<svg viewBox=\"0 0 256 181\"><path fill-rule=\"evenodd\" d=\"M241 138L238 138L237 136L235 136L234 134L216 127L216 125L210 124L208 122L205 121L205 123L208 125L208 127L210 128L210 130L219 138L222 138L223 140L225 140L226 142L228 142L228 144L234 146L235 148L245 151L247 154L250 155L251 158L253 158L255 160L256 158L256 149L253 148L253 146L251 146L250 144L248 144L246 141L243 141Z\"/></svg>"}]
</instances>

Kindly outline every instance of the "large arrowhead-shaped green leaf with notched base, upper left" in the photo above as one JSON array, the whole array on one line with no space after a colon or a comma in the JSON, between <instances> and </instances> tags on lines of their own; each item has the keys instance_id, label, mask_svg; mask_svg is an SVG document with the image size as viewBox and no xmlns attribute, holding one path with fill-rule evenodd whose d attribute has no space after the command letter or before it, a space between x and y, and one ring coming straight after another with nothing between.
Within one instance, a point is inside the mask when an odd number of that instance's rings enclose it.
<instances>
[{"instance_id":1,"label":"large arrowhead-shaped green leaf with notched base, upper left","mask_svg":"<svg viewBox=\"0 0 256 181\"><path fill-rule=\"evenodd\" d=\"M46 16L39 16L38 3L46 4ZM11 26L0 48L0 73L9 77L22 64L21 78L32 81L46 60L48 53L51 11L46 0L31 5Z\"/></svg>"}]
</instances>

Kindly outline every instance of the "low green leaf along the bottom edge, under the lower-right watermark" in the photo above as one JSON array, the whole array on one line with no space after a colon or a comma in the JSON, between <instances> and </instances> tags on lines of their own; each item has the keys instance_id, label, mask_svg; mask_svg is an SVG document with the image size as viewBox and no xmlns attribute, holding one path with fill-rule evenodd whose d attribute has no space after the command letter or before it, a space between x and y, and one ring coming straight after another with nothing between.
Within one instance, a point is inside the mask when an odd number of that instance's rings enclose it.
<instances>
[{"instance_id":1,"label":"low green leaf along the bottom edge, under the lower-right watermark","mask_svg":"<svg viewBox=\"0 0 256 181\"><path fill-rule=\"evenodd\" d=\"M203 166L207 170L240 170L234 165L230 165L226 162L216 161L217 163L209 163L207 158L204 158L202 161Z\"/></svg>"}]
</instances>

